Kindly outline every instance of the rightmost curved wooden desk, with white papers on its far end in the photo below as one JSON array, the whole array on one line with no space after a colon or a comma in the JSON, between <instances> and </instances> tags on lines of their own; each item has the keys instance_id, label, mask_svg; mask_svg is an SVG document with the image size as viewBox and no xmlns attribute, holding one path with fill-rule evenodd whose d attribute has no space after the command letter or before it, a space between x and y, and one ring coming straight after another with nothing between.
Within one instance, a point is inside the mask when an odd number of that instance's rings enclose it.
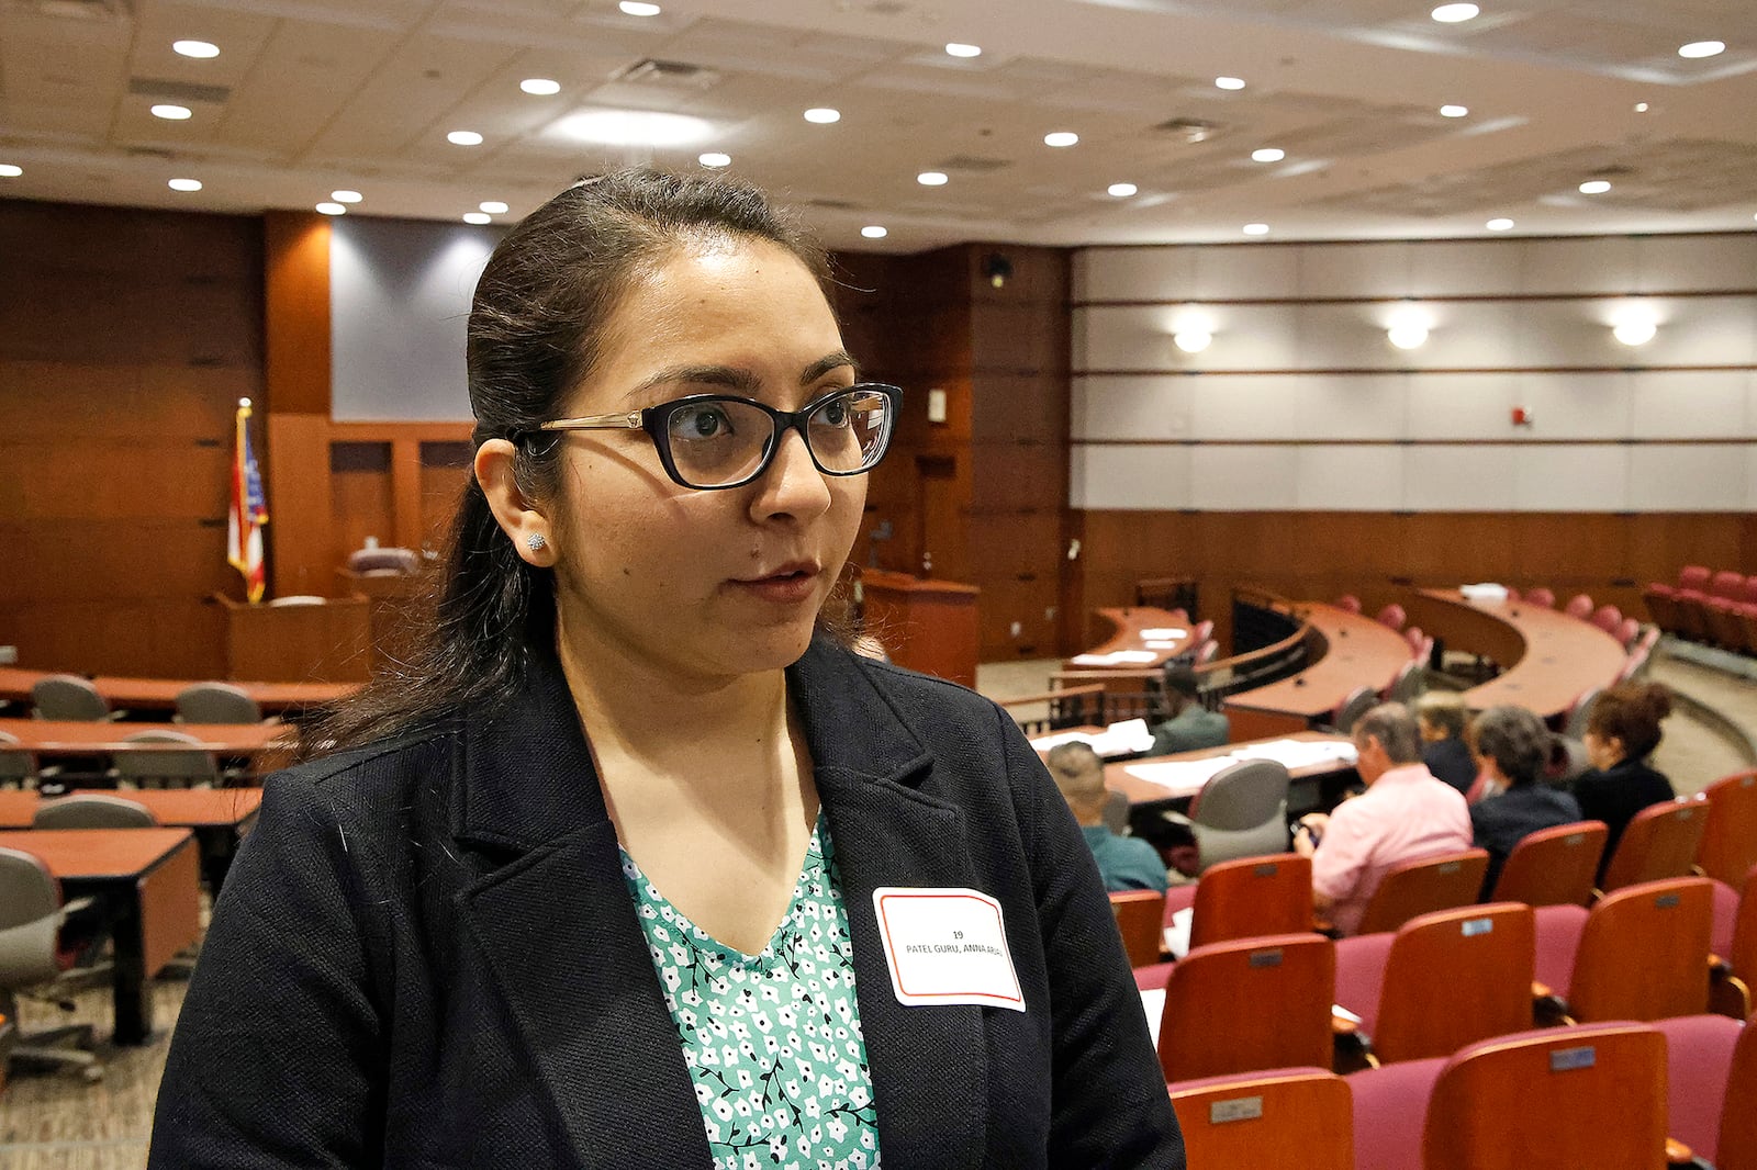
<instances>
[{"instance_id":1,"label":"rightmost curved wooden desk, with white papers on its far end","mask_svg":"<svg viewBox=\"0 0 1757 1170\"><path fill-rule=\"evenodd\" d=\"M1609 687L1623 668L1622 643L1592 622L1520 601L1476 604L1455 589L1421 589L1404 604L1409 620L1442 641L1493 659L1499 676L1464 692L1481 711L1523 706L1541 719L1565 715L1581 694Z\"/></svg>"}]
</instances>

